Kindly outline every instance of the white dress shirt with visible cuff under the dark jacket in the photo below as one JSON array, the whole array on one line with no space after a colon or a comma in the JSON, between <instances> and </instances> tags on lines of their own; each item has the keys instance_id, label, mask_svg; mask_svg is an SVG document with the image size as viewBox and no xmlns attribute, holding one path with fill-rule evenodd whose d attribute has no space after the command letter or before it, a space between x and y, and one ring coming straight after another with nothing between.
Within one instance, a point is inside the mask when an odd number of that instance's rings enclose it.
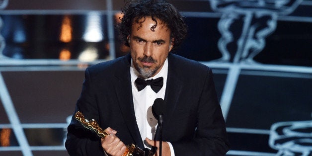
<instances>
[{"instance_id":1,"label":"white dress shirt with visible cuff under the dark jacket","mask_svg":"<svg viewBox=\"0 0 312 156\"><path fill-rule=\"evenodd\" d=\"M137 124L139 127L141 138L144 142L144 146L146 148L150 148L150 146L145 142L145 138L147 137L149 139L154 140L155 137L157 120L152 114L152 105L156 98L164 99L168 75L168 59L165 60L164 65L162 66L159 73L157 73L154 77L147 78L147 79L152 78L156 79L159 77L163 77L163 86L157 93L151 88L150 85L147 85L143 90L138 91L135 85L135 80L138 78L139 73L134 68L132 61L133 60L131 60L130 75L131 75L131 86L132 86L135 116L137 119ZM173 147L170 143L168 144L170 147L171 156L174 156Z\"/></svg>"}]
</instances>

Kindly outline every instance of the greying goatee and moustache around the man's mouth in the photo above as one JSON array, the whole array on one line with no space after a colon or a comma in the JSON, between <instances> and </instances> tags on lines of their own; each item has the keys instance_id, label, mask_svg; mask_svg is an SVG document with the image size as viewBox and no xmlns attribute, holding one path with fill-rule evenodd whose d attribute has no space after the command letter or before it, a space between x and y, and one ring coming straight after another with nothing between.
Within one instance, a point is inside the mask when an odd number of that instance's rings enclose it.
<instances>
[{"instance_id":1,"label":"greying goatee and moustache around the man's mouth","mask_svg":"<svg viewBox=\"0 0 312 156\"><path fill-rule=\"evenodd\" d=\"M157 62L152 57L147 57L147 56L144 56L143 58L138 58L138 60L142 61L142 62L147 62L147 63L156 63ZM150 66L140 67L138 64L135 64L134 66L143 78L150 78L150 77L154 76L156 74L156 72L158 71L158 69L160 68L160 66L156 66L154 69Z\"/></svg>"}]
</instances>

